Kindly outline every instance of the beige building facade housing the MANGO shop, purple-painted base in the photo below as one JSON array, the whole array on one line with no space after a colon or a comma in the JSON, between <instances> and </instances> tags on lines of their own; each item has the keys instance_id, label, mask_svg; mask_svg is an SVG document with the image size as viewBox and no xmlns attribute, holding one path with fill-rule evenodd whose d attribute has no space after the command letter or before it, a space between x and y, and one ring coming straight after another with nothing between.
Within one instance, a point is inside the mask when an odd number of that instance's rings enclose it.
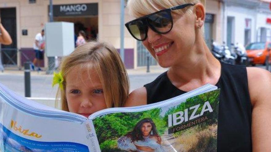
<instances>
[{"instance_id":1,"label":"beige building facade housing the MANGO shop, purple-painted base","mask_svg":"<svg viewBox=\"0 0 271 152\"><path fill-rule=\"evenodd\" d=\"M73 22L75 34L84 30L89 39L107 41L119 50L120 0L53 0L53 10L54 21ZM20 67L32 61L34 37L49 21L49 0L0 0L0 14L13 39L12 45L2 45L3 64ZM125 10L125 21L131 19ZM124 62L127 68L135 68L135 42L127 30L124 35ZM48 66L47 57L43 63Z\"/></svg>"}]
</instances>

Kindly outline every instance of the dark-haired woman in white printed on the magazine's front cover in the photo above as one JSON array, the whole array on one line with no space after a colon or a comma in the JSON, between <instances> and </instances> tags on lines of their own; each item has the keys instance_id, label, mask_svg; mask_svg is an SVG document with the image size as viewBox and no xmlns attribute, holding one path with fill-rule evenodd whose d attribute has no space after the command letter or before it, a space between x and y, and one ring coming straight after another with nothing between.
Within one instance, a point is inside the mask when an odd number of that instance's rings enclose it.
<instances>
[{"instance_id":1,"label":"dark-haired woman in white printed on the magazine's front cover","mask_svg":"<svg viewBox=\"0 0 271 152\"><path fill-rule=\"evenodd\" d=\"M140 120L133 131L119 138L118 147L121 150L133 152L164 152L161 137L150 118Z\"/></svg>"}]
</instances>

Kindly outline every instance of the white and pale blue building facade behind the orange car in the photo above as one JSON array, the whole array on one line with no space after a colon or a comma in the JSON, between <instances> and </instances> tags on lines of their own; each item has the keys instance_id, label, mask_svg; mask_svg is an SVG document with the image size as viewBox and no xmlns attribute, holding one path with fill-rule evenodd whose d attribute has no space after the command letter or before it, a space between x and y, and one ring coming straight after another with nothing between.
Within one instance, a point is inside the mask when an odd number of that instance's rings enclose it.
<instances>
[{"instance_id":1,"label":"white and pale blue building facade behind the orange car","mask_svg":"<svg viewBox=\"0 0 271 152\"><path fill-rule=\"evenodd\" d=\"M223 39L228 46L271 41L270 0L225 0Z\"/></svg>"}]
</instances>

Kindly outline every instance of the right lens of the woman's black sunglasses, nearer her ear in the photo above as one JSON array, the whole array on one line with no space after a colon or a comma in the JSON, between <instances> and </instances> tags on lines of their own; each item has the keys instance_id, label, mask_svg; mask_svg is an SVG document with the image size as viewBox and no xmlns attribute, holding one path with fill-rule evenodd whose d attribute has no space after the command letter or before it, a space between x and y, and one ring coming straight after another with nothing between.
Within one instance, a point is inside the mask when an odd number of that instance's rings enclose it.
<instances>
[{"instance_id":1,"label":"right lens of the woman's black sunglasses, nearer her ear","mask_svg":"<svg viewBox=\"0 0 271 152\"><path fill-rule=\"evenodd\" d=\"M148 17L148 23L156 31L167 33L172 28L172 18L168 11L159 12Z\"/></svg>"}]
</instances>

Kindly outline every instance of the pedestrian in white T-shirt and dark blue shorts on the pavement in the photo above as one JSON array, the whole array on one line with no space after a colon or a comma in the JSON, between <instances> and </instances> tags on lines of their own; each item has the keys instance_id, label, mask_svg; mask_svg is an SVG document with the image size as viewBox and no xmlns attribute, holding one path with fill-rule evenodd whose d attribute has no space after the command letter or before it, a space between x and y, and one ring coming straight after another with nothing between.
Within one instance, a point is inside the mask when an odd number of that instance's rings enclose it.
<instances>
[{"instance_id":1,"label":"pedestrian in white T-shirt and dark blue shorts on the pavement","mask_svg":"<svg viewBox=\"0 0 271 152\"><path fill-rule=\"evenodd\" d=\"M36 53L33 63L31 64L32 70L35 70L35 66L37 65L37 70L41 71L40 65L43 60L43 51L44 51L44 29L42 29L41 33L38 33L35 36L35 42L33 45L34 51Z\"/></svg>"}]
</instances>

